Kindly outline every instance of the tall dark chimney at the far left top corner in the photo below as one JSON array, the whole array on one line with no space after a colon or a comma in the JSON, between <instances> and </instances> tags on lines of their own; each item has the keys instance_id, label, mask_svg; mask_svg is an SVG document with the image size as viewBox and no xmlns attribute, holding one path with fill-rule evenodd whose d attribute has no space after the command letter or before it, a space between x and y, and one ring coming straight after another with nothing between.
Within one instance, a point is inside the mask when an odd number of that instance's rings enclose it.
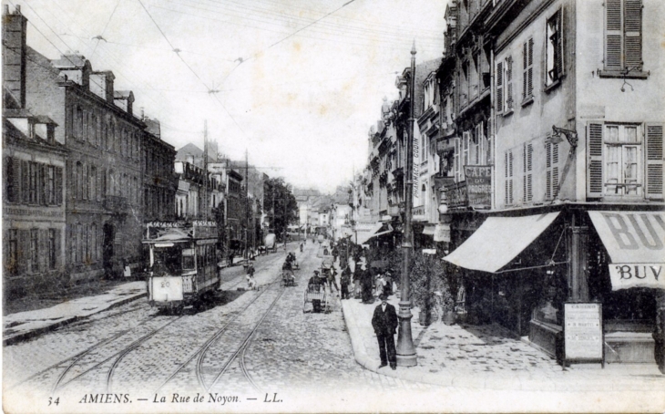
<instances>
[{"instance_id":1,"label":"tall dark chimney at the far left top corner","mask_svg":"<svg viewBox=\"0 0 665 414\"><path fill-rule=\"evenodd\" d=\"M16 5L14 14L9 14L5 5L3 12L3 84L15 96L21 109L26 108L26 27L27 19Z\"/></svg>"}]
</instances>

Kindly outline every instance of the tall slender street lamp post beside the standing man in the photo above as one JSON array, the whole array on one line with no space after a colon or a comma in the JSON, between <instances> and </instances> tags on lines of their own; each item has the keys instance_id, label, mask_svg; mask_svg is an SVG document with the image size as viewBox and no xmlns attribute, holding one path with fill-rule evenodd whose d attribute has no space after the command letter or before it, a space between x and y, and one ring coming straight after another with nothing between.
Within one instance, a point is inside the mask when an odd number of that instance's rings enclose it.
<instances>
[{"instance_id":1,"label":"tall slender street lamp post beside the standing man","mask_svg":"<svg viewBox=\"0 0 665 414\"><path fill-rule=\"evenodd\" d=\"M411 260L411 209L414 197L414 100L415 100L415 41L411 49L411 79L409 82L409 127L406 137L406 172L404 175L404 241L402 243L402 254L404 267L402 269L402 290L400 293L399 317L400 328L397 334L397 365L400 367L414 367L418 365L415 355L414 339L411 336L411 300L409 298L409 287L411 284L409 274L409 262Z\"/></svg>"}]
</instances>

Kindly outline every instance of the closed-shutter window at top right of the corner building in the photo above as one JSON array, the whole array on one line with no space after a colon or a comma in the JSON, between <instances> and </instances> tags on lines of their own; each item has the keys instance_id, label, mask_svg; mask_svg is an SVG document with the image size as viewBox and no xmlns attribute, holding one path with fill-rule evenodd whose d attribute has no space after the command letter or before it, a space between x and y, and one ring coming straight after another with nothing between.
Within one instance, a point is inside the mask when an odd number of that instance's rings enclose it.
<instances>
[{"instance_id":1,"label":"closed-shutter window at top right of the corner building","mask_svg":"<svg viewBox=\"0 0 665 414\"><path fill-rule=\"evenodd\" d=\"M605 70L642 69L640 0L605 1Z\"/></svg>"}]
</instances>

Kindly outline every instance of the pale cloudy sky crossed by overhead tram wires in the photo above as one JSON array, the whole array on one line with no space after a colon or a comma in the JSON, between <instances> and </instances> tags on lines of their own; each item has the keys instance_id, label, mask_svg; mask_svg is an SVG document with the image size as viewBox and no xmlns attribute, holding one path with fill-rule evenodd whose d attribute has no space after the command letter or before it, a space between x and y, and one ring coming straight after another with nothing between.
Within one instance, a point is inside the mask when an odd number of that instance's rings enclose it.
<instances>
[{"instance_id":1,"label":"pale cloudy sky crossed by overhead tram wires","mask_svg":"<svg viewBox=\"0 0 665 414\"><path fill-rule=\"evenodd\" d=\"M394 81L442 57L445 0L5 0L28 46L77 51L132 90L176 149L210 140L300 188L333 191L367 162ZM94 38L97 36L103 39Z\"/></svg>"}]
</instances>

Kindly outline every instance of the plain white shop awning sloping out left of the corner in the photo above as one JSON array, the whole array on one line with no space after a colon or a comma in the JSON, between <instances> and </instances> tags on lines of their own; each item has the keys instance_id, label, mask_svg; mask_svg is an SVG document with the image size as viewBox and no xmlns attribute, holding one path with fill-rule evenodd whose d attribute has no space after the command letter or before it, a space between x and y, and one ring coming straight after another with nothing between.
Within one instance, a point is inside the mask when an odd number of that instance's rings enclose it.
<instances>
[{"instance_id":1,"label":"plain white shop awning sloping out left of the corner","mask_svg":"<svg viewBox=\"0 0 665 414\"><path fill-rule=\"evenodd\" d=\"M496 272L522 253L557 216L558 212L547 212L522 217L489 217L444 260L466 269Z\"/></svg>"}]
</instances>

